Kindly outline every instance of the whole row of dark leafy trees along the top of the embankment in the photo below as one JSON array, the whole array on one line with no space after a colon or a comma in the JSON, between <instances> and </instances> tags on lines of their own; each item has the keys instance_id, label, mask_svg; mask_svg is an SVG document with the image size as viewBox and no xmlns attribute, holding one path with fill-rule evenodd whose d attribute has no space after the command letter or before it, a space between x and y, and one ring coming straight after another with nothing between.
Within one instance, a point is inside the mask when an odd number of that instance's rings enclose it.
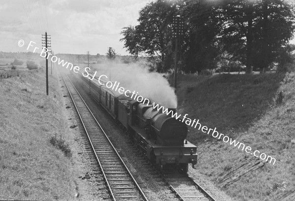
<instances>
[{"instance_id":1,"label":"whole row of dark leafy trees along the top of the embankment","mask_svg":"<svg viewBox=\"0 0 295 201\"><path fill-rule=\"evenodd\" d=\"M228 60L245 65L246 73L264 71L283 61L295 30L295 8L285 0L155 0L139 14L139 25L124 27L120 40L130 54L158 59L158 71L173 67L175 15L184 22L177 53L186 72Z\"/></svg>"}]
</instances>

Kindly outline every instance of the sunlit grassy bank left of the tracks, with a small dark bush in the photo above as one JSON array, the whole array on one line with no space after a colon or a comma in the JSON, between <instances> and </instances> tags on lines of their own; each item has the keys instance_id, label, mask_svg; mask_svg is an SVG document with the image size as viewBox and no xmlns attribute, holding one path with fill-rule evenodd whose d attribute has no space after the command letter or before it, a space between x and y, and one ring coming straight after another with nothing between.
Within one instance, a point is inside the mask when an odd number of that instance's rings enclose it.
<instances>
[{"instance_id":1,"label":"sunlit grassy bank left of the tracks, with a small dark bush","mask_svg":"<svg viewBox=\"0 0 295 201\"><path fill-rule=\"evenodd\" d=\"M0 200L74 200L58 81L46 96L44 70L11 72L0 72L13 75L0 76Z\"/></svg>"}]
</instances>

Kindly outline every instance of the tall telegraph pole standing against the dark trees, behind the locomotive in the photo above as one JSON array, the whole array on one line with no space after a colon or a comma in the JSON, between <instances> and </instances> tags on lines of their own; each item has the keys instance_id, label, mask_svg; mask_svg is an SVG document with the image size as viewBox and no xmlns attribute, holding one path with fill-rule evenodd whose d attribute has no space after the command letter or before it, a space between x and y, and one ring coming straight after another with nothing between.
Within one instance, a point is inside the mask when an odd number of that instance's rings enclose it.
<instances>
[{"instance_id":1,"label":"tall telegraph pole standing against the dark trees, behind the locomotive","mask_svg":"<svg viewBox=\"0 0 295 201\"><path fill-rule=\"evenodd\" d=\"M175 38L175 55L174 55L174 88L176 93L177 87L177 49L178 49L178 40L179 35L182 34L183 22L180 18L180 15L173 17L173 37Z\"/></svg>"}]
</instances>

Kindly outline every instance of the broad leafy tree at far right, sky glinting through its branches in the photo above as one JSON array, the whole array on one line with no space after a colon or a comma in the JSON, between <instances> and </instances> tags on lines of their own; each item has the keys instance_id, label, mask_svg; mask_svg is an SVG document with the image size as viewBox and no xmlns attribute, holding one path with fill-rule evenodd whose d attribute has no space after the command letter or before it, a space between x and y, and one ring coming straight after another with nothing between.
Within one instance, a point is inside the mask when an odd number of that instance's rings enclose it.
<instances>
[{"instance_id":1,"label":"broad leafy tree at far right, sky glinting through its branches","mask_svg":"<svg viewBox=\"0 0 295 201\"><path fill-rule=\"evenodd\" d=\"M225 0L216 7L224 49L246 65L265 69L294 32L294 11L284 0Z\"/></svg>"}]
</instances>

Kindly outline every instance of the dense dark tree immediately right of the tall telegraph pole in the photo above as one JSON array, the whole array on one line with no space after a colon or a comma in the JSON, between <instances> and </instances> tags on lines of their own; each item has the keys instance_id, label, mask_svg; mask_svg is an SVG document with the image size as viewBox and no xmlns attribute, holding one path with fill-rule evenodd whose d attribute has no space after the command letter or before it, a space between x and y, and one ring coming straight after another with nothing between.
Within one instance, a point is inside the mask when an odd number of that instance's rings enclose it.
<instances>
[{"instance_id":1,"label":"dense dark tree immediately right of the tall telegraph pole","mask_svg":"<svg viewBox=\"0 0 295 201\"><path fill-rule=\"evenodd\" d=\"M217 67L220 47L216 35L220 29L214 5L214 1L186 0L181 6L181 15L186 19L182 52L187 72Z\"/></svg>"}]
</instances>

